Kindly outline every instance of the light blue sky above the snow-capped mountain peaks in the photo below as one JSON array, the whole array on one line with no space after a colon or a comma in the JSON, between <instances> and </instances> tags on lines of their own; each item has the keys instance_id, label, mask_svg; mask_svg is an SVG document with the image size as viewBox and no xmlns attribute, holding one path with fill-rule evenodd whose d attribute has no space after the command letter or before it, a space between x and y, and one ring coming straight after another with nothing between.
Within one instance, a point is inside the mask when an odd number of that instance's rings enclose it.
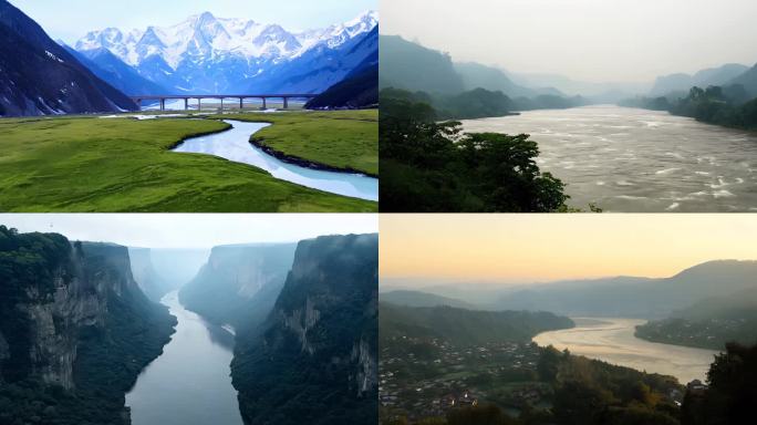
<instances>
[{"instance_id":1,"label":"light blue sky above the snow-capped mountain peaks","mask_svg":"<svg viewBox=\"0 0 757 425\"><path fill-rule=\"evenodd\" d=\"M53 39L73 43L89 31L165 27L209 11L219 18L278 23L288 30L328 27L348 21L378 0L9 0L34 19Z\"/></svg>"}]
</instances>

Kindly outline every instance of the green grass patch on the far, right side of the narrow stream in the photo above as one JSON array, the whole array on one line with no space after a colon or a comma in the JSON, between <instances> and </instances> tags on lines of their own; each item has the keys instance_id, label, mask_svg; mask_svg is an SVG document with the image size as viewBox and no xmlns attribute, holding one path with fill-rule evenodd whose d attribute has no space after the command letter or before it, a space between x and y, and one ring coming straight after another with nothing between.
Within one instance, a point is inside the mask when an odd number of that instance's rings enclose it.
<instances>
[{"instance_id":1,"label":"green grass patch on the far, right side of the narrow stream","mask_svg":"<svg viewBox=\"0 0 757 425\"><path fill-rule=\"evenodd\" d=\"M287 156L378 175L378 111L225 114L226 120L271 123L253 138Z\"/></svg>"}]
</instances>

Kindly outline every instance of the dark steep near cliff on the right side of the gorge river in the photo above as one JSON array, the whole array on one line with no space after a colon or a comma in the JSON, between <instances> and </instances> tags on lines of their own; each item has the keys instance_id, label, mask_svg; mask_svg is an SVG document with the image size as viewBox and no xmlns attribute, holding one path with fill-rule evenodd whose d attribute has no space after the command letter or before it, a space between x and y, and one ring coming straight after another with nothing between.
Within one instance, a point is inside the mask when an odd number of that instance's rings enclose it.
<instances>
[{"instance_id":1,"label":"dark steep near cliff on the right side of the gorge river","mask_svg":"<svg viewBox=\"0 0 757 425\"><path fill-rule=\"evenodd\" d=\"M237 334L246 423L375 424L377 277L377 235L299 243L266 322Z\"/></svg>"}]
</instances>

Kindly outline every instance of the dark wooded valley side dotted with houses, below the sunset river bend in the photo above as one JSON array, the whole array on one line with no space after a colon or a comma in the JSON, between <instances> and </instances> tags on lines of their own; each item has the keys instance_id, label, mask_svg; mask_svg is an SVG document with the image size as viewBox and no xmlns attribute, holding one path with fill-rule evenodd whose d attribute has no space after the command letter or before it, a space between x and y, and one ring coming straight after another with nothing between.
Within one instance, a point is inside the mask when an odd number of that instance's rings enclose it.
<instances>
[{"instance_id":1,"label":"dark wooded valley side dotted with houses, below the sunset river bend","mask_svg":"<svg viewBox=\"0 0 757 425\"><path fill-rule=\"evenodd\" d=\"M678 423L675 402L684 388L674 377L527 342L526 333L559 328L556 320L569 322L567 318L501 312L501 321L495 323L480 319L500 313L437 308L438 314L431 314L433 309L404 308L403 314L396 310L384 307L380 311L382 379L388 380L387 393L382 393L387 403L380 414L384 425ZM447 313L456 314L448 320L440 317ZM494 329L499 326L509 332ZM480 338L471 340L466 332ZM456 391L474 394L477 403L439 408Z\"/></svg>"}]
</instances>

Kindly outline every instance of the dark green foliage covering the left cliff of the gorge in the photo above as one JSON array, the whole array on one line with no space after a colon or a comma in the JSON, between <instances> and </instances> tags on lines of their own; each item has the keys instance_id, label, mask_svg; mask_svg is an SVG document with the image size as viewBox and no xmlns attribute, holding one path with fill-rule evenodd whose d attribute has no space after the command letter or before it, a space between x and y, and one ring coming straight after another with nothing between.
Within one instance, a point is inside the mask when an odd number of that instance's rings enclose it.
<instances>
[{"instance_id":1,"label":"dark green foliage covering the left cliff of the gorge","mask_svg":"<svg viewBox=\"0 0 757 425\"><path fill-rule=\"evenodd\" d=\"M0 226L0 338L9 348L9 355L3 355L0 346L0 424L128 423L124 394L159 355L175 319L151 303L133 282L126 290L115 289L131 279L115 266L127 265L126 258L123 247L79 242L72 247L61 235L20 235ZM56 338L74 340L76 346L73 390L45 384L31 367L32 361L50 359L30 359L29 343L37 330L28 311L53 302L53 279L65 286L76 279L80 290L105 309L102 324L53 315Z\"/></svg>"}]
</instances>

